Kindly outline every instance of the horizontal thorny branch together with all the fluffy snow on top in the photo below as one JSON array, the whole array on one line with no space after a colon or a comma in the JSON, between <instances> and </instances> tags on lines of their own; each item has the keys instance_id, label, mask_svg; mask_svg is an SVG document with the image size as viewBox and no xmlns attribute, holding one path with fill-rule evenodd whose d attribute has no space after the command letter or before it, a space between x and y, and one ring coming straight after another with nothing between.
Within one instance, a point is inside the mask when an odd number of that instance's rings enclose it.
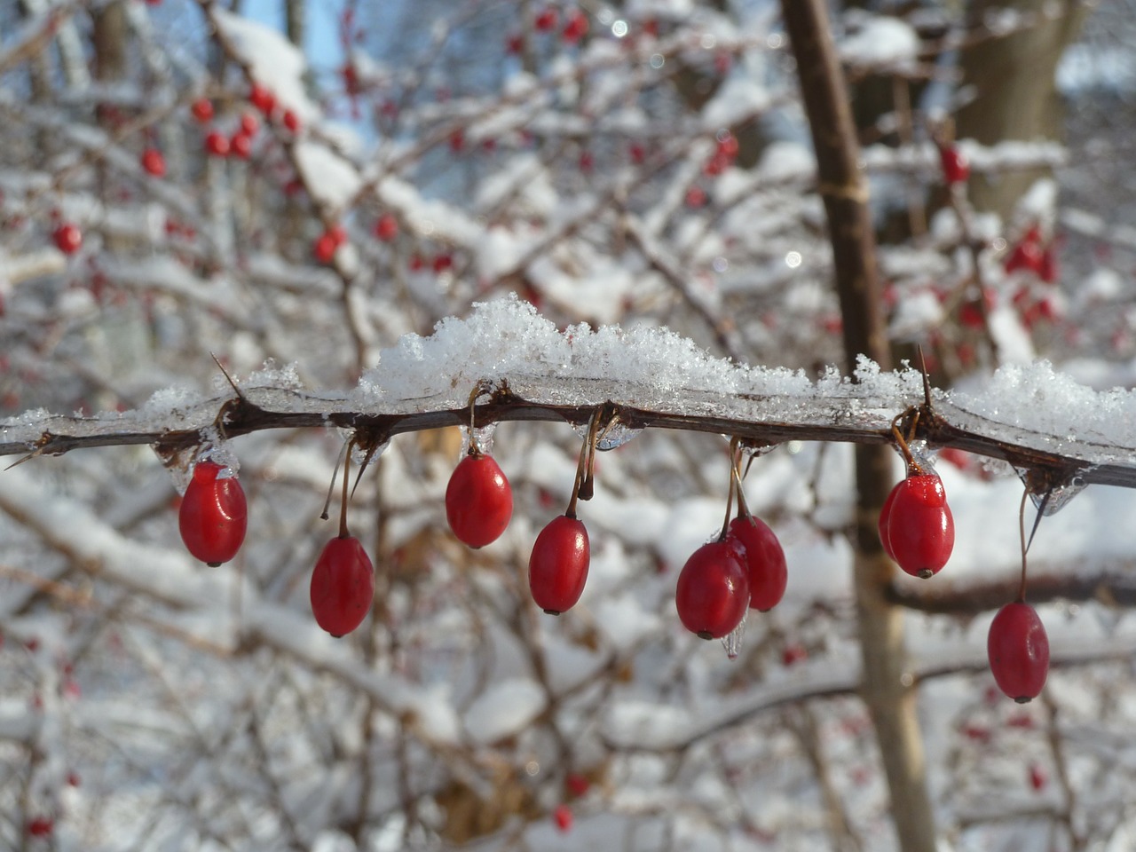
<instances>
[{"instance_id":1,"label":"horizontal thorny branch together with all the fluffy snow on top","mask_svg":"<svg viewBox=\"0 0 1136 852\"><path fill-rule=\"evenodd\" d=\"M667 329L586 325L558 329L516 298L448 318L429 337L406 335L345 392L300 387L272 369L232 392L203 398L166 390L134 411L93 417L28 411L0 421L0 456L154 444L173 452L274 428L340 427L381 446L392 436L469 423L602 421L736 435L752 445L786 441L886 443L896 416L920 408L918 435L1003 459L1060 485L1079 479L1136 486L1136 393L1094 391L1046 364L1004 367L976 390L933 391L924 403L914 369L882 371L861 360L853 378L829 368L816 381L785 368L713 358Z\"/></svg>"}]
</instances>

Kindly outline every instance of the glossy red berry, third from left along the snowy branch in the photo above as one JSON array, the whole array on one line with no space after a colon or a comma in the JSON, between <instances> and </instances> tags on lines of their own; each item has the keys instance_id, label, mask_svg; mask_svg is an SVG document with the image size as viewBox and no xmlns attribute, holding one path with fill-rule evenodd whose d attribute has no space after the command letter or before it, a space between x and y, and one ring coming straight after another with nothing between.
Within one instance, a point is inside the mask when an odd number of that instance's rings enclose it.
<instances>
[{"instance_id":1,"label":"glossy red berry, third from left along the snowy branch","mask_svg":"<svg viewBox=\"0 0 1136 852\"><path fill-rule=\"evenodd\" d=\"M450 529L470 548L494 542L512 517L512 488L492 456L470 453L450 476L445 518Z\"/></svg>"}]
</instances>

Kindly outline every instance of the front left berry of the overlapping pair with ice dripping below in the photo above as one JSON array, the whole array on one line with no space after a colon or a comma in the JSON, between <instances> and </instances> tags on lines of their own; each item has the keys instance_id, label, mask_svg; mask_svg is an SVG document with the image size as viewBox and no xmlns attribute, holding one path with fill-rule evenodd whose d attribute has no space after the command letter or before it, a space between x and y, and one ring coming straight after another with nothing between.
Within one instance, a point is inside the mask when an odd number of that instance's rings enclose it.
<instances>
[{"instance_id":1,"label":"front left berry of the overlapping pair with ice dripping below","mask_svg":"<svg viewBox=\"0 0 1136 852\"><path fill-rule=\"evenodd\" d=\"M691 633L721 638L742 623L750 605L750 580L733 542L703 544L678 575L675 607Z\"/></svg>"}]
</instances>

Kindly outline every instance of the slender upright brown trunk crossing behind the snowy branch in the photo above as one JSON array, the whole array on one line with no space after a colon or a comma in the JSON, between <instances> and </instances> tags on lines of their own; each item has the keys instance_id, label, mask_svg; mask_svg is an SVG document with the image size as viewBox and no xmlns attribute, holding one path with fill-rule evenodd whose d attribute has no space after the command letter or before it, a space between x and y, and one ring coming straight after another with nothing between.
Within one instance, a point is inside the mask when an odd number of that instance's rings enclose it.
<instances>
[{"instance_id":1,"label":"slender upright brown trunk crossing behind the snowy branch","mask_svg":"<svg viewBox=\"0 0 1136 852\"><path fill-rule=\"evenodd\" d=\"M858 144L843 73L824 0L782 0L782 15L796 58L813 147L818 190L825 201L836 289L844 320L847 369L859 354L891 367L879 304L876 245L868 189L857 167ZM927 793L922 740L911 680L904 677L902 611L885 592L895 566L876 534L880 507L892 486L892 451L858 446L854 551L857 612L863 657L861 693L876 727L903 852L934 852L935 824Z\"/></svg>"}]
</instances>

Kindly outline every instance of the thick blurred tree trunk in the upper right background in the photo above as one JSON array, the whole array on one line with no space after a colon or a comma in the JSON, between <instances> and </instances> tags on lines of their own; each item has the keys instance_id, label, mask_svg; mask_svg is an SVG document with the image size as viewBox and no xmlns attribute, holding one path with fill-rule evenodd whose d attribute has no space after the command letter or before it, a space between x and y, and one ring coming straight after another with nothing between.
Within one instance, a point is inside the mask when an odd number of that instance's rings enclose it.
<instances>
[{"instance_id":1,"label":"thick blurred tree trunk in the upper right background","mask_svg":"<svg viewBox=\"0 0 1136 852\"><path fill-rule=\"evenodd\" d=\"M962 85L975 98L957 117L958 135L983 144L1004 140L1055 140L1061 136L1062 105L1054 75L1066 47L1077 37L1087 14L1079 0L1063 0L1058 14L1044 12L1047 0L975 0L971 19L980 22L994 9L1012 8L1036 23L1005 37L985 39L959 57ZM979 210L1008 220L1018 199L1049 170L1031 169L970 181L970 201Z\"/></svg>"}]
</instances>

